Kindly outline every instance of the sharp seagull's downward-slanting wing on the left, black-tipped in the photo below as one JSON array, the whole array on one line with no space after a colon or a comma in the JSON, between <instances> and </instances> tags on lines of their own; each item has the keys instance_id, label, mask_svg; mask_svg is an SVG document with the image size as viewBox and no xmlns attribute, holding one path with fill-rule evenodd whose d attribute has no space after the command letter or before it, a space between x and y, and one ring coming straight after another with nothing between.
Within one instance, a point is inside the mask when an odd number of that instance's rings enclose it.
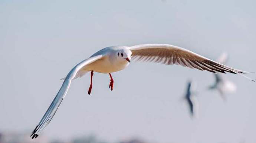
<instances>
[{"instance_id":1,"label":"sharp seagull's downward-slanting wing on the left, black-tipped","mask_svg":"<svg viewBox=\"0 0 256 143\"><path fill-rule=\"evenodd\" d=\"M83 60L81 63L77 64L75 67L73 67L72 70L69 71L68 75L66 76L65 80L63 81L63 84L58 92L58 94L55 96L54 100L50 104L50 107L47 109L45 115L43 115L43 118L38 123L36 128L32 132L32 139L36 138L40 133L42 133L43 129L49 124L49 122L52 120L54 114L56 113L57 109L59 108L60 103L65 98L65 95L68 92L69 86L71 84L71 81L76 77L76 74L79 73L79 71L86 65L95 62L98 59L101 59L102 55L93 56L86 60Z\"/></svg>"}]
</instances>

